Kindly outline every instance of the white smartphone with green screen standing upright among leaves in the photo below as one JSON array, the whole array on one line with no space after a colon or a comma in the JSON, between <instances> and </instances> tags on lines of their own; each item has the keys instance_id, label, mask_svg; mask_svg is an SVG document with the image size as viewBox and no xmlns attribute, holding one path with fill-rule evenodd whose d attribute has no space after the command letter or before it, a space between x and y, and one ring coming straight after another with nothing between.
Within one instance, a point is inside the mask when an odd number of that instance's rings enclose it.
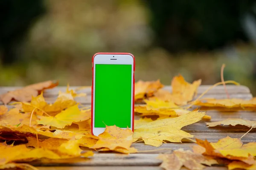
<instances>
[{"instance_id":1,"label":"white smartphone with green screen standing upright among leaves","mask_svg":"<svg viewBox=\"0 0 256 170\"><path fill-rule=\"evenodd\" d=\"M129 53L93 55L91 133L106 125L134 130L135 59Z\"/></svg>"}]
</instances>

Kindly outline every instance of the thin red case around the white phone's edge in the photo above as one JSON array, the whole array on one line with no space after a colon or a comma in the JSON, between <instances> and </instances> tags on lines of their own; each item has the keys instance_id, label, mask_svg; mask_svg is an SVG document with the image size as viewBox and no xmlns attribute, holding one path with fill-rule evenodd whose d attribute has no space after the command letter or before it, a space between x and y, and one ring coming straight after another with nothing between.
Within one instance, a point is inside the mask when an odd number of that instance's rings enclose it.
<instances>
[{"instance_id":1,"label":"thin red case around the white phone's edge","mask_svg":"<svg viewBox=\"0 0 256 170\"><path fill-rule=\"evenodd\" d=\"M130 55L133 57L133 61L134 61L134 69L133 69L133 96L132 96L132 101L133 101L133 105L132 105L132 131L134 131L134 82L135 82L135 79L134 79L134 72L135 72L135 58L134 58L134 55L130 54L130 53L96 53L93 55L93 58L92 58L92 64L94 65L93 61L94 61L94 57L98 54L126 54L126 55ZM93 71L93 67L92 67L92 72ZM94 74L94 73L93 73ZM92 79L92 92L91 92L92 96L91 96L91 101L92 101L92 104L91 104L91 133L93 134L93 79Z\"/></svg>"}]
</instances>

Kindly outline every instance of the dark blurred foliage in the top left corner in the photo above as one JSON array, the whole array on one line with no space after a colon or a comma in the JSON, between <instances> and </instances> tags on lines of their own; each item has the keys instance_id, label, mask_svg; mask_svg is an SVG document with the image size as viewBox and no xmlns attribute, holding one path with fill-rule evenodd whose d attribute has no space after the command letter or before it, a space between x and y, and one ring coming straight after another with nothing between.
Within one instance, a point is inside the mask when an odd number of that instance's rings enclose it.
<instances>
[{"instance_id":1,"label":"dark blurred foliage in the top left corner","mask_svg":"<svg viewBox=\"0 0 256 170\"><path fill-rule=\"evenodd\" d=\"M4 63L17 59L15 47L45 8L42 0L1 0L0 1L0 58Z\"/></svg>"}]
</instances>

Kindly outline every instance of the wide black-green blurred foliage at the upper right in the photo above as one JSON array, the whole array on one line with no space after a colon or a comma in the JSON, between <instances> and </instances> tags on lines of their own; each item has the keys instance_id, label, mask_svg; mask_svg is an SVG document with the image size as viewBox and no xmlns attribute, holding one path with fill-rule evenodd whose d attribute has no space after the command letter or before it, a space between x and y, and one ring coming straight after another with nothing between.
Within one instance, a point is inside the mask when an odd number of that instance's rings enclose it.
<instances>
[{"instance_id":1,"label":"wide black-green blurred foliage at the upper right","mask_svg":"<svg viewBox=\"0 0 256 170\"><path fill-rule=\"evenodd\" d=\"M215 49L247 40L241 20L255 0L146 0L155 42L168 51Z\"/></svg>"}]
</instances>

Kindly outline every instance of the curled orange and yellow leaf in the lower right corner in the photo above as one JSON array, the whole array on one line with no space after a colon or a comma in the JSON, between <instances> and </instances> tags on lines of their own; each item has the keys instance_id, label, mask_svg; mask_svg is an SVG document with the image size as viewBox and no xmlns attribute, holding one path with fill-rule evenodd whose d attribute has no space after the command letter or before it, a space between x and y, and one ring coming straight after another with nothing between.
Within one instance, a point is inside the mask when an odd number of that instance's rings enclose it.
<instances>
[{"instance_id":1,"label":"curled orange and yellow leaf in the lower right corner","mask_svg":"<svg viewBox=\"0 0 256 170\"><path fill-rule=\"evenodd\" d=\"M230 160L240 160L247 164L253 164L253 156L256 156L256 142L250 142L243 145L241 139L230 138L229 136L220 139L218 142L209 143L196 139L197 144L204 147L205 155L218 156Z\"/></svg>"}]
</instances>

